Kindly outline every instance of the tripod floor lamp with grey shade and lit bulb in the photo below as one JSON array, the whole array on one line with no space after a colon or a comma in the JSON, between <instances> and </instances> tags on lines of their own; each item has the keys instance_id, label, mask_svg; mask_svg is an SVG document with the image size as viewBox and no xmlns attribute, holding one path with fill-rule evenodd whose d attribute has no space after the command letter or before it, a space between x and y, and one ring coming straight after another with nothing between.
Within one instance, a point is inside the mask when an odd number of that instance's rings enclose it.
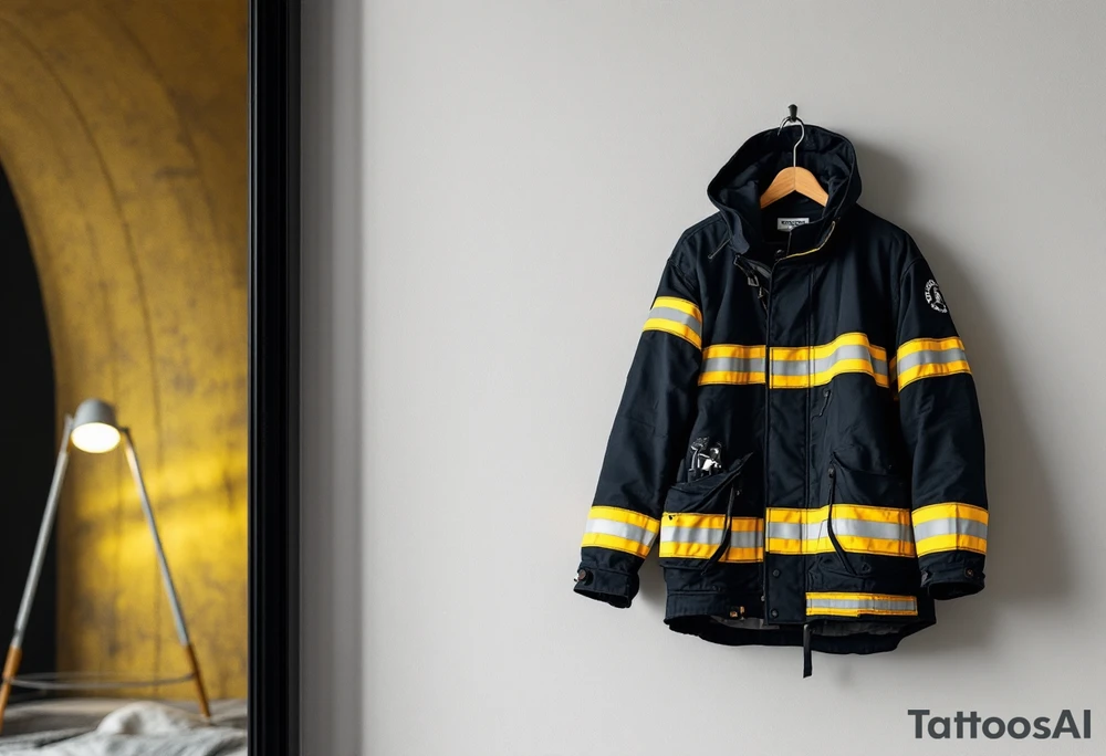
<instances>
[{"instance_id":1,"label":"tripod floor lamp with grey shade and lit bulb","mask_svg":"<svg viewBox=\"0 0 1106 756\"><path fill-rule=\"evenodd\" d=\"M94 454L109 452L124 444L127 456L127 464L131 466L131 475L134 477L135 487L138 490L138 502L142 505L143 514L146 516L146 525L154 540L154 549L157 553L158 567L161 570L161 580L165 582L165 591L169 597L169 606L173 609L173 620L177 629L177 639L185 649L189 672L181 678L171 680L145 680L139 682L111 682L94 683L87 679L75 682L65 682L58 675L27 675L17 676L19 663L22 659L23 634L27 632L27 622L31 613L31 605L34 602L34 591L39 585L39 577L42 574L42 561L45 558L46 545L50 543L50 533L53 529L54 519L58 515L58 500L61 495L62 482L65 480L65 468L69 464L70 444L74 449ZM196 683L196 695L199 700L200 713L209 717L207 693L204 690L204 681L200 678L200 668L196 661L196 651L192 649L191 640L188 637L188 628L185 624L185 615L180 609L180 599L177 589L173 585L173 576L169 574L169 563L165 559L165 550L161 548L161 538L157 534L157 525L154 522L154 510L149 505L149 496L146 494L146 484L143 482L142 469L138 466L138 455L135 453L134 441L131 431L123 428L115 420L115 409L100 399L86 399L77 407L73 416L66 416L65 429L62 435L61 449L58 452L58 464L54 468L54 477L50 484L50 494L46 497L46 508L42 513L42 525L39 528L39 540L34 546L34 557L31 560L31 571L27 576L27 585L23 588L23 600L19 605L19 613L15 616L15 631L12 634L11 645L8 648L8 660L3 666L3 680L0 682L0 728L3 727L4 710L8 706L8 697L11 695L12 686L30 687L38 690L87 690L90 687L126 687L137 685L157 685L177 682L194 681Z\"/></svg>"}]
</instances>

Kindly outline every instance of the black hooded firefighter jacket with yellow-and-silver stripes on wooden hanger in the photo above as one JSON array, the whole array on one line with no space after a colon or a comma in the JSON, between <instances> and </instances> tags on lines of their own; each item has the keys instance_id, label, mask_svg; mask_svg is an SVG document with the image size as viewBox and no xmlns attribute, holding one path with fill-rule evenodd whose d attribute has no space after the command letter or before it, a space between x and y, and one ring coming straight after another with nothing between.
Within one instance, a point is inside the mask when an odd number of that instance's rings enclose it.
<instances>
[{"instance_id":1,"label":"black hooded firefighter jacket with yellow-and-silver stripes on wooden hanger","mask_svg":"<svg viewBox=\"0 0 1106 756\"><path fill-rule=\"evenodd\" d=\"M806 126L825 207L760 197L795 135L747 141L665 265L575 591L628 607L654 543L666 623L732 645L889 651L983 588L983 433L964 346L853 145Z\"/></svg>"}]
</instances>

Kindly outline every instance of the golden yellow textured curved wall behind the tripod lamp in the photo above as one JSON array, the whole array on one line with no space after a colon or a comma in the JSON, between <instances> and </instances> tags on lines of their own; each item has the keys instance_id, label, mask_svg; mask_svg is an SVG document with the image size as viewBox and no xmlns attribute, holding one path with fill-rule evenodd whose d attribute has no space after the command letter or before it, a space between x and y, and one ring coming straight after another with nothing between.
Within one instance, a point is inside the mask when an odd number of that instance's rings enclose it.
<instances>
[{"instance_id":1,"label":"golden yellow textured curved wall behind the tripod lamp","mask_svg":"<svg viewBox=\"0 0 1106 756\"><path fill-rule=\"evenodd\" d=\"M246 0L0 0L0 161L59 411L133 429L209 694L243 696ZM59 668L182 673L122 452L73 455L58 528Z\"/></svg>"}]
</instances>

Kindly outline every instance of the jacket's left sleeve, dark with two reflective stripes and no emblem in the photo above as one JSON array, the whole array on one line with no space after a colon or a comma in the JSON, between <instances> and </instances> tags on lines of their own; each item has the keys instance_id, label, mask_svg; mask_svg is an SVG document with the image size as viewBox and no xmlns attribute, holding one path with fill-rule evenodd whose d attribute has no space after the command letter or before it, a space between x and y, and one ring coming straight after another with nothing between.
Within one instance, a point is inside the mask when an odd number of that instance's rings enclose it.
<instances>
[{"instance_id":1,"label":"jacket's left sleeve, dark with two reflective stripes and no emblem","mask_svg":"<svg viewBox=\"0 0 1106 756\"><path fill-rule=\"evenodd\" d=\"M587 517L575 591L615 607L637 595L693 420L702 347L693 280L677 248L645 321Z\"/></svg>"}]
</instances>

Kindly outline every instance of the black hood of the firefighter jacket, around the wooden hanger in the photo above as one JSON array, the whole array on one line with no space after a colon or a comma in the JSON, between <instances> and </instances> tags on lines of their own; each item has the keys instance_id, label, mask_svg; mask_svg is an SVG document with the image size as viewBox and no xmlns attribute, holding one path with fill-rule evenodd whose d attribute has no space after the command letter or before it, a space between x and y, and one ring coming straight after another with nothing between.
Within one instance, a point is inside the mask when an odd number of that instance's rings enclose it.
<instances>
[{"instance_id":1,"label":"black hood of the firefighter jacket, around the wooden hanger","mask_svg":"<svg viewBox=\"0 0 1106 756\"><path fill-rule=\"evenodd\" d=\"M817 177L830 201L821 218L792 231L792 244L800 249L823 243L832 223L843 218L860 196L860 174L853 144L821 126L805 124L805 128L797 162ZM739 254L763 240L760 196L778 172L792 165L792 148L797 138L794 128L761 132L734 153L707 187L707 196L726 220Z\"/></svg>"}]
</instances>

